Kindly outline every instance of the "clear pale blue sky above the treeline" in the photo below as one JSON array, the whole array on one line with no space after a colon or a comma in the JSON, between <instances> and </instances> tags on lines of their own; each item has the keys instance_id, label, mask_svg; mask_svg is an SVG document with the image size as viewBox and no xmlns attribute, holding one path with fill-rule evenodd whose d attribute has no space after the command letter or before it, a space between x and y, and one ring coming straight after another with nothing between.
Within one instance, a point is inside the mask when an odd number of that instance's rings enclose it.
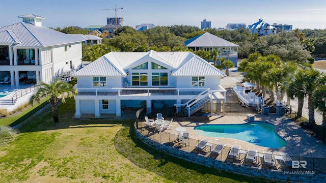
<instances>
[{"instance_id":1,"label":"clear pale blue sky above the treeline","mask_svg":"<svg viewBox=\"0 0 326 183\"><path fill-rule=\"evenodd\" d=\"M325 29L326 0L0 0L0 27L21 22L17 16L36 14L46 27L106 25L106 17L123 17L124 24L156 26L201 26L206 19L212 28L228 23L282 23L294 28Z\"/></svg>"}]
</instances>

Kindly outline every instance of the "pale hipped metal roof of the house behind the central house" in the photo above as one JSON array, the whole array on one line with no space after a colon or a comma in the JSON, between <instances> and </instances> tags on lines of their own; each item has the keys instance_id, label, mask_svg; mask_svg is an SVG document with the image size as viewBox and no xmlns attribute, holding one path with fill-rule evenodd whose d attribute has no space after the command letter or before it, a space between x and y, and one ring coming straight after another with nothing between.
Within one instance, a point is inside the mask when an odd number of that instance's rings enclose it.
<instances>
[{"instance_id":1,"label":"pale hipped metal roof of the house behind the central house","mask_svg":"<svg viewBox=\"0 0 326 183\"><path fill-rule=\"evenodd\" d=\"M186 47L239 47L230 41L210 33L204 33L184 42Z\"/></svg>"}]
</instances>

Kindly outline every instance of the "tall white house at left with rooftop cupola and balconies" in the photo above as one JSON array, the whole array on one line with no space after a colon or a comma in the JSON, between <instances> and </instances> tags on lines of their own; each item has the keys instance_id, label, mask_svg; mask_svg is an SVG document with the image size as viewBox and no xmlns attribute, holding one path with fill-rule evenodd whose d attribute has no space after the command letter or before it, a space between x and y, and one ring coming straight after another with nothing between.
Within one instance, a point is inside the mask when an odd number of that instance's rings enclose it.
<instances>
[{"instance_id":1,"label":"tall white house at left with rooftop cupola and balconies","mask_svg":"<svg viewBox=\"0 0 326 183\"><path fill-rule=\"evenodd\" d=\"M50 82L82 66L83 39L42 26L44 17L27 14L23 21L0 28L0 78L19 86L24 75L31 82Z\"/></svg>"}]
</instances>

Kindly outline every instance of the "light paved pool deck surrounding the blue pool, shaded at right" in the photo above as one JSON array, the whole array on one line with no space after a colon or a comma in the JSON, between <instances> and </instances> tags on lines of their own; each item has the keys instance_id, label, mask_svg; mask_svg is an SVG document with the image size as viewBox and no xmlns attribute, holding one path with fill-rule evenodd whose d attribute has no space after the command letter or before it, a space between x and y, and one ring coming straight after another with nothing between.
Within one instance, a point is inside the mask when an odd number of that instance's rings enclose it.
<instances>
[{"instance_id":1,"label":"light paved pool deck surrounding the blue pool, shaded at right","mask_svg":"<svg viewBox=\"0 0 326 183\"><path fill-rule=\"evenodd\" d=\"M206 137L198 135L194 132L194 127L203 124L243 124L247 123L247 114L240 113L229 113L225 116L214 115L211 117L195 117L195 118L175 118L172 122L172 130L167 129L165 132L177 136L177 127L184 127L186 132L189 133L189 138L201 140L203 138L211 141L212 144L224 143L227 147L232 145L241 146L242 150L248 150L248 148L257 149L259 153L263 151L268 151L273 154L278 154L278 152L286 152L290 156L294 157L306 157L306 158L326 158L326 144L322 143L317 138L313 137L307 133L300 126L296 125L290 119L284 115L277 114L253 114L255 120L266 121L275 126L276 132L286 140L286 145L280 148L268 148L255 145L249 142L241 141L232 138L222 138L222 137ZM200 120L200 119L203 120ZM207 120L208 118L208 120ZM182 120L183 119L183 120ZM169 120L166 118L166 120ZM148 135L152 134L152 129L148 129ZM155 133L154 136L158 134ZM170 137L171 138L171 137ZM164 140L165 141L165 140Z\"/></svg>"}]
</instances>

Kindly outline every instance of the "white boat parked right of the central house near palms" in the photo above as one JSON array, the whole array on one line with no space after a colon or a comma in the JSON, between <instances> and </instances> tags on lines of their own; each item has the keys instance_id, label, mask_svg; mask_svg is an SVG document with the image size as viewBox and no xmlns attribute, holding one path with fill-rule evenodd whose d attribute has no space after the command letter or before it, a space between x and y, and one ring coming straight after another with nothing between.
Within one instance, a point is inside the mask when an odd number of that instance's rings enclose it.
<instances>
[{"instance_id":1,"label":"white boat parked right of the central house near palms","mask_svg":"<svg viewBox=\"0 0 326 183\"><path fill-rule=\"evenodd\" d=\"M243 82L243 87L236 85L233 87L235 94L239 99L239 104L244 107L253 107L257 111L260 111L263 105L262 97L258 97L254 92L252 92L255 84L250 82Z\"/></svg>"}]
</instances>

